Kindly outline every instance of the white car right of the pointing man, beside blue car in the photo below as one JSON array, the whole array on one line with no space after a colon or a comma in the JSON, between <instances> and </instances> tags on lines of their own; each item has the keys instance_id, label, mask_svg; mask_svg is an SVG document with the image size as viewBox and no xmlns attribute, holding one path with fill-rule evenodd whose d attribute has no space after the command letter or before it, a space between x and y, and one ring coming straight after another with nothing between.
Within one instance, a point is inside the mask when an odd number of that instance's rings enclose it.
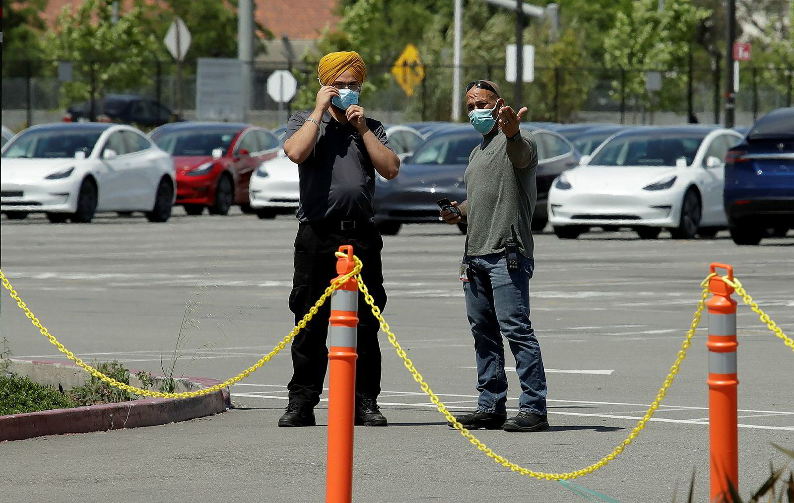
<instances>
[{"instance_id":1,"label":"white car right of the pointing man, beside blue car","mask_svg":"<svg viewBox=\"0 0 794 503\"><path fill-rule=\"evenodd\" d=\"M727 226L724 159L742 135L715 126L638 127L604 141L549 191L558 238L592 226L630 227L642 239L713 237Z\"/></svg>"}]
</instances>

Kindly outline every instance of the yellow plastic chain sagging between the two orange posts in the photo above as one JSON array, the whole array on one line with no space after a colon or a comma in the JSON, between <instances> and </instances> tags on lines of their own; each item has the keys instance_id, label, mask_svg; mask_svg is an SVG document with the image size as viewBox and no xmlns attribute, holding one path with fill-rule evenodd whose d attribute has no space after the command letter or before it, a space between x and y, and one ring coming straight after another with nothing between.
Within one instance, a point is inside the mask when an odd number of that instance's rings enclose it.
<instances>
[{"instance_id":1,"label":"yellow plastic chain sagging between the two orange posts","mask_svg":"<svg viewBox=\"0 0 794 503\"><path fill-rule=\"evenodd\" d=\"M353 257L353 258L355 259L357 266L361 265L361 261L358 259L358 257ZM659 404L661 404L661 401L665 399L665 396L667 395L667 389L670 387L670 385L673 384L673 379L676 373L678 373L678 369L681 364L681 361L684 360L684 357L687 354L687 350L690 345L690 340L692 339L692 336L695 335L695 329L697 328L698 323L700 323L700 313L703 312L703 308L706 307L706 299L708 297L707 280L710 279L712 276L714 276L714 274L709 275L709 277L707 277L706 280L704 280L703 283L700 284L700 286L703 287L703 292L701 293L700 300L698 301L695 315L692 317L692 323L689 326L687 335L684 338L684 342L681 344L681 349L678 351L676 362L673 363L672 367L670 367L670 373L667 374L667 378L665 379L664 384L661 385L661 389L659 389L659 393L657 393L656 400L653 400L653 404L650 405L645 416L643 416L642 419L637 422L637 426L634 427L634 429L631 431L629 436L627 436L626 439L623 440L618 447L615 447L614 451L604 456L603 458L599 459L598 462L595 462L590 466L586 466L581 470L569 471L567 473L562 473L562 474L534 471L534 470L530 470L529 468L525 468L524 466L520 466L515 462L511 462L507 458L496 454L494 451L491 451L491 449L487 447L484 443L482 443L480 439L477 439L476 436L472 435L471 431L468 431L468 429L464 428L463 425L455 419L455 416L453 416L447 410L445 404L442 404L441 401L438 400L436 394L433 393L433 390L430 389L430 386L427 385L424 378L422 378L422 374L419 373L418 370L416 370L416 368L414 367L414 363L410 361L410 358L408 358L405 350L403 350L403 348L399 345L399 342L397 342L397 338L389 328L389 324L386 323L386 319L384 319L384 316L380 313L380 308L378 308L375 305L375 299L373 299L372 295L369 294L367 285L364 284L364 281L361 280L361 277L357 277L356 280L358 281L358 289L361 291L361 293L364 294L364 300L367 302L367 304L369 304L369 307L372 308L372 315L374 315L378 319L378 321L380 321L380 327L388 335L389 342L391 342L391 346L394 346L399 357L403 358L403 363L405 367L408 369L408 372L410 372L411 375L414 376L414 381L418 382L419 387L422 389L422 391L425 392L428 397L430 397L430 402L432 402L436 406L438 412L441 412L441 414L444 415L446 420L449 423L453 424L456 430L461 431L461 435L463 435L466 439L468 439L468 441L472 443L472 445L477 447L479 451L484 452L484 454L488 456L488 458L493 459L495 462L498 462L500 465L506 468L510 468L511 470L518 472L519 474L527 475L529 477L534 477L538 479L545 479L545 480L560 480L560 479L567 480L569 478L577 478L586 474L590 474L593 471L598 470L603 466L606 466L607 463L610 462L612 459L615 459L615 456L619 455L623 451L623 449L625 449L626 446L628 446L632 442L632 440L637 438L637 435L639 435L640 431L642 431L646 427L646 423L648 422L648 420L650 420L650 418L653 417L653 412L656 412L656 409L659 408Z\"/></svg>"}]
</instances>

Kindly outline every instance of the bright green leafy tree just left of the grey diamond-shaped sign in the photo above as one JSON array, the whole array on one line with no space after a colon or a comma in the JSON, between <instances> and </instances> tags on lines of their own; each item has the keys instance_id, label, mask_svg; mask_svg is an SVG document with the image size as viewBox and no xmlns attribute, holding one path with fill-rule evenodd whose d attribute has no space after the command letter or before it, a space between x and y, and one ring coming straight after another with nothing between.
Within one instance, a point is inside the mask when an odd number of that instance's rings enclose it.
<instances>
[{"instance_id":1,"label":"bright green leafy tree just left of the grey diamond-shaped sign","mask_svg":"<svg viewBox=\"0 0 794 503\"><path fill-rule=\"evenodd\" d=\"M113 0L86 0L77 10L64 7L56 29L48 33L48 52L55 60L71 61L75 79L64 83L64 103L94 99L108 91L123 91L151 83L154 55L160 41L145 29L141 6L112 19Z\"/></svg>"}]
</instances>

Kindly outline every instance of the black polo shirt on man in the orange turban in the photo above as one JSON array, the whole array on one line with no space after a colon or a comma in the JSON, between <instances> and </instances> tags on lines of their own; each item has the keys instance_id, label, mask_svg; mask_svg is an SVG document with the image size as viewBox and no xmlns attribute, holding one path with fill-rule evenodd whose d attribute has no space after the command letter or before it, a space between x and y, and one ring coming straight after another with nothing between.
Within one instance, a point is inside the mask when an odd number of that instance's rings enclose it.
<instances>
[{"instance_id":1,"label":"black polo shirt on man in the orange turban","mask_svg":"<svg viewBox=\"0 0 794 503\"><path fill-rule=\"evenodd\" d=\"M299 130L310 112L299 112L287 122L286 138ZM384 125L367 118L367 127L389 149ZM326 111L314 150L298 164L301 222L363 220L375 216L375 166L364 138L352 125L340 124ZM312 125L314 127L314 125Z\"/></svg>"}]
</instances>

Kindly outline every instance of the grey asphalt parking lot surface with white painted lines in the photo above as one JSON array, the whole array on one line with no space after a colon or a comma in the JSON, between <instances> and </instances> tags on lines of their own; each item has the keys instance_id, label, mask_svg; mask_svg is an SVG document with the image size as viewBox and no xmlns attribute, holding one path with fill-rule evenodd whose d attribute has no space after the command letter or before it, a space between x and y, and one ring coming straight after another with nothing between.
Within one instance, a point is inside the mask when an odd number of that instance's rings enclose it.
<instances>
[{"instance_id":1,"label":"grey asphalt parking lot surface with white painted lines","mask_svg":"<svg viewBox=\"0 0 794 503\"><path fill-rule=\"evenodd\" d=\"M0 222L2 270L75 354L136 370L170 362L186 303L178 373L226 378L291 329L291 217L188 217L165 224L98 217L87 225ZM536 239L532 318L549 379L549 431L476 434L534 470L597 461L634 427L675 358L711 261L734 265L761 307L794 332L794 232L761 246L672 241L663 233ZM453 410L476 405L472 340L458 280L464 238L453 226L405 226L384 238L387 320ZM366 266L366 265L365 265ZM2 292L0 337L20 358L60 358ZM705 323L646 431L605 468L575 482L623 502L671 501L696 468L707 499ZM771 442L794 446L792 353L738 310L740 487L760 486ZM428 403L388 345L380 402L389 428L357 428L355 501L584 501L557 482L496 465ZM508 357L508 365L513 365ZM3 501L323 501L325 428L278 429L288 354L232 390L239 408L183 424L0 444ZM515 406L518 380L511 377ZM326 424L326 402L318 424ZM514 409L515 410L515 409ZM10 499L6 499L10 498Z\"/></svg>"}]
</instances>

